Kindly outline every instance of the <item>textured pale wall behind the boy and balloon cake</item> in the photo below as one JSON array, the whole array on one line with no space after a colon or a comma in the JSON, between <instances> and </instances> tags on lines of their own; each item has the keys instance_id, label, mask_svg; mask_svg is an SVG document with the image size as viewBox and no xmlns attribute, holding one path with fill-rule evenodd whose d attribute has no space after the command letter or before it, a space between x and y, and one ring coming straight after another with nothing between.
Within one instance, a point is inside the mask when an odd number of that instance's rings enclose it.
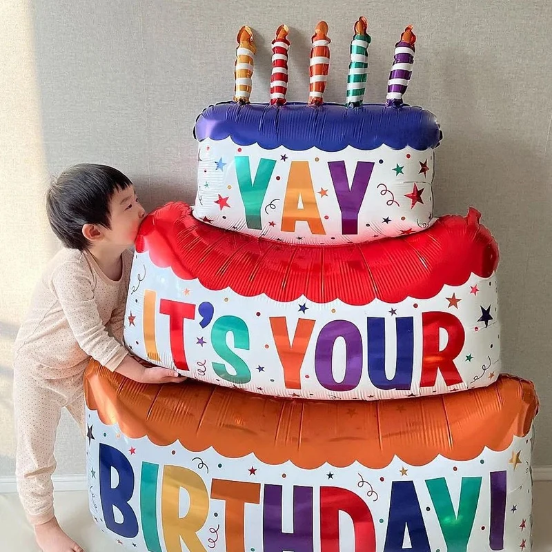
<instances>
[{"instance_id":1,"label":"textured pale wall behind the boy and balloon cake","mask_svg":"<svg viewBox=\"0 0 552 552\"><path fill-rule=\"evenodd\" d=\"M32 6L32 7L31 7ZM14 469L11 345L34 282L57 244L44 215L50 175L111 164L146 207L192 201L192 128L233 92L235 35L255 30L253 101L268 99L270 41L291 28L288 99L308 94L315 23L330 26L327 101L344 101L353 23L368 17L368 101L382 101L393 46L418 35L407 101L433 111L437 214L479 208L500 244L506 371L535 380L542 400L535 464L552 464L552 3L547 0L4 0L0 7L0 477ZM83 470L67 417L59 473Z\"/></svg>"}]
</instances>

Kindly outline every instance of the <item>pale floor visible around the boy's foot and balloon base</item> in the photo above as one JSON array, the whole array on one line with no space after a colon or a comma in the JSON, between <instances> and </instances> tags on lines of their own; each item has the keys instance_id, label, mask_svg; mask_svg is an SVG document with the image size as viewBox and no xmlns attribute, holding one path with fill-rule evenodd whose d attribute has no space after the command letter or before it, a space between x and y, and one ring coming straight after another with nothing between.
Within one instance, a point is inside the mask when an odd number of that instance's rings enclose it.
<instances>
[{"instance_id":1,"label":"pale floor visible around the boy's foot and balloon base","mask_svg":"<svg viewBox=\"0 0 552 552\"><path fill-rule=\"evenodd\" d=\"M86 552L121 552L121 546L103 535L92 522L88 513L88 495L85 492L57 493L55 508L61 526ZM551 510L552 482L535 482L532 552L552 552ZM21 504L15 494L0 495L0 551L38 552L32 530L24 519Z\"/></svg>"}]
</instances>

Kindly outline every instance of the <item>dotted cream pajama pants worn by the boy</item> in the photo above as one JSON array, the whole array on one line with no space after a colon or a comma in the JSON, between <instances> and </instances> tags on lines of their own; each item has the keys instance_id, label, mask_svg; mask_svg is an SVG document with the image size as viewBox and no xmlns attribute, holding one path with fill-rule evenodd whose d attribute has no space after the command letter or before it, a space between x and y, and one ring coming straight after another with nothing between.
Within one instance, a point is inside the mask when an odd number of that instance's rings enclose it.
<instances>
[{"instance_id":1,"label":"dotted cream pajama pants worn by the boy","mask_svg":"<svg viewBox=\"0 0 552 552\"><path fill-rule=\"evenodd\" d=\"M31 524L54 516L52 473L56 469L54 447L61 409L67 408L86 435L82 372L56 380L37 377L40 367L14 367L14 413L17 436L17 491Z\"/></svg>"}]
</instances>

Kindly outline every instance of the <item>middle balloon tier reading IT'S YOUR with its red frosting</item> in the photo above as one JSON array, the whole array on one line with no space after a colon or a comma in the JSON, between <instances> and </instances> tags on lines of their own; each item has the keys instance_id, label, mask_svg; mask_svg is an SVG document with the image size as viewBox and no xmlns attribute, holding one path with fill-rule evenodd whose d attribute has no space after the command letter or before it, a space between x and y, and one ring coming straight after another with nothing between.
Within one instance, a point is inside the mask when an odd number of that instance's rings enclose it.
<instances>
[{"instance_id":1,"label":"middle balloon tier reading IT'S YOUR with its red frosting","mask_svg":"<svg viewBox=\"0 0 552 552\"><path fill-rule=\"evenodd\" d=\"M125 340L184 375L246 391L380 400L500 373L497 246L480 215L351 246L221 230L172 203L142 224Z\"/></svg>"}]
</instances>

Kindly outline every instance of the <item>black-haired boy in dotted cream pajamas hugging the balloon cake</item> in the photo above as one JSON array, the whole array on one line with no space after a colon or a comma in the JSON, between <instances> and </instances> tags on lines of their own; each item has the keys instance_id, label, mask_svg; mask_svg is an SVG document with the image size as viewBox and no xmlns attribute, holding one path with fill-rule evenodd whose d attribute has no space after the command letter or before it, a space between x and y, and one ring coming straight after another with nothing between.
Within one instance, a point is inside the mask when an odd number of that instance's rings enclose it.
<instances>
[{"instance_id":1,"label":"black-haired boy in dotted cream pajamas hugging the balloon cake","mask_svg":"<svg viewBox=\"0 0 552 552\"><path fill-rule=\"evenodd\" d=\"M54 445L65 406L84 432L83 371L90 357L137 382L179 382L144 368L121 344L132 253L146 215L115 168L74 166L50 186L50 226L65 248L48 264L14 346L19 496L43 552L83 552L53 509Z\"/></svg>"}]
</instances>

